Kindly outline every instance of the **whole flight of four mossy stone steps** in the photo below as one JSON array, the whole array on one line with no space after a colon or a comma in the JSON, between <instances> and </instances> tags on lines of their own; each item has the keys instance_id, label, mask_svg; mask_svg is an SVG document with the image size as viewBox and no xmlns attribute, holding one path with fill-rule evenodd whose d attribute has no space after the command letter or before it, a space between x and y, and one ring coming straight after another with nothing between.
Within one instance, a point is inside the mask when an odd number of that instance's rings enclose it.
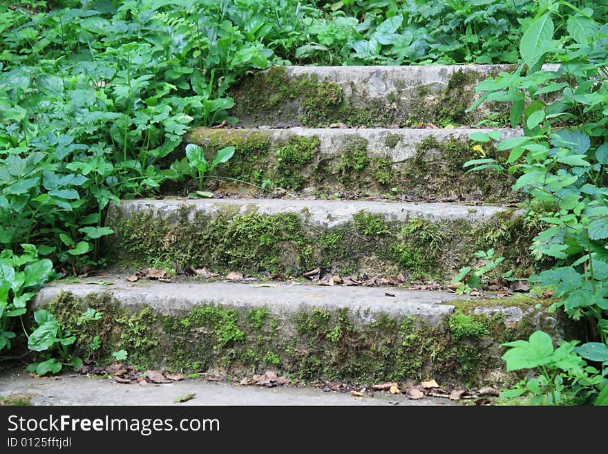
<instances>
[{"instance_id":1,"label":"whole flight of four mossy stone steps","mask_svg":"<svg viewBox=\"0 0 608 454\"><path fill-rule=\"evenodd\" d=\"M233 93L236 128L196 128L187 138L211 159L236 148L210 182L215 197L111 207L112 272L48 285L35 305L74 329L82 308L95 308L97 356L124 349L146 366L509 381L500 343L536 327L560 337L560 323L528 296L432 290L475 265L478 249L525 268L530 232L510 182L462 169L497 155L468 139L480 121L486 129L474 131L520 134L504 128L504 107L466 112L475 84L506 69L294 66L252 75ZM261 189L265 180L273 191ZM133 276L142 267L183 274Z\"/></svg>"}]
</instances>

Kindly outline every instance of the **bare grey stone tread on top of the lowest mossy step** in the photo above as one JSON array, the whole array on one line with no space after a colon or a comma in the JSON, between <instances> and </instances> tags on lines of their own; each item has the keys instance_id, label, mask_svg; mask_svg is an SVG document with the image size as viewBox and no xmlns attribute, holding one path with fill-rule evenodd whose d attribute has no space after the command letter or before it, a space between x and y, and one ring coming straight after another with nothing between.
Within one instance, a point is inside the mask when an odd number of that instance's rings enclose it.
<instances>
[{"instance_id":1,"label":"bare grey stone tread on top of the lowest mossy step","mask_svg":"<svg viewBox=\"0 0 608 454\"><path fill-rule=\"evenodd\" d=\"M391 287L324 286L287 282L227 282L200 283L196 281L164 283L138 281L131 283L117 275L106 276L105 282L95 283L97 278L84 278L79 283L57 281L43 287L37 294L34 307L39 308L53 301L61 292L84 297L88 294L110 292L126 307L139 308L148 305L164 315L177 315L200 305L213 303L232 308L267 308L274 314L295 314L310 308L335 310L349 308L361 314L386 313L391 316L416 316L425 323L437 325L444 316L454 311L450 302L467 296L440 290L405 290ZM386 293L395 296L387 296Z\"/></svg>"}]
</instances>

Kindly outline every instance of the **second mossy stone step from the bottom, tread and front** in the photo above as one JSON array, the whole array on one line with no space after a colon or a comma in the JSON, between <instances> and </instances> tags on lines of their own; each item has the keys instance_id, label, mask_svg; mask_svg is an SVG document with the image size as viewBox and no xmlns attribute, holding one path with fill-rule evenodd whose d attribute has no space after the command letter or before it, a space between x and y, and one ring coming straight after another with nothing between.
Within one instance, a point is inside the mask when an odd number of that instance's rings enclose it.
<instances>
[{"instance_id":1,"label":"second mossy stone step from the bottom, tread and front","mask_svg":"<svg viewBox=\"0 0 608 454\"><path fill-rule=\"evenodd\" d=\"M519 265L535 233L513 209L305 199L122 200L106 225L108 263L213 271L449 278L494 247ZM527 270L529 271L529 270Z\"/></svg>"}]
</instances>

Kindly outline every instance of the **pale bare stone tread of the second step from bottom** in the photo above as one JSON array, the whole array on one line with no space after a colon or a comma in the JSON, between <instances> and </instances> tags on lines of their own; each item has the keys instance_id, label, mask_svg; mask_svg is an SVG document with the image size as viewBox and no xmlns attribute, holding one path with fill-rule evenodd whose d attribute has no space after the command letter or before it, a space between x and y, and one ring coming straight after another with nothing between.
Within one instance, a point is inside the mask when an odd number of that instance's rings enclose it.
<instances>
[{"instance_id":1,"label":"pale bare stone tread of the second step from bottom","mask_svg":"<svg viewBox=\"0 0 608 454\"><path fill-rule=\"evenodd\" d=\"M164 198L121 200L120 209L128 215L135 211L153 211L157 216L175 214L181 207L192 207L205 214L221 210L222 207L238 208L239 214L255 211L257 214L300 213L306 215L307 223L334 227L352 221L352 216L361 211L379 214L385 220L460 220L484 223L491 220L505 207L494 205L462 205L442 202L399 202L384 200L319 200L306 198Z\"/></svg>"}]
</instances>

